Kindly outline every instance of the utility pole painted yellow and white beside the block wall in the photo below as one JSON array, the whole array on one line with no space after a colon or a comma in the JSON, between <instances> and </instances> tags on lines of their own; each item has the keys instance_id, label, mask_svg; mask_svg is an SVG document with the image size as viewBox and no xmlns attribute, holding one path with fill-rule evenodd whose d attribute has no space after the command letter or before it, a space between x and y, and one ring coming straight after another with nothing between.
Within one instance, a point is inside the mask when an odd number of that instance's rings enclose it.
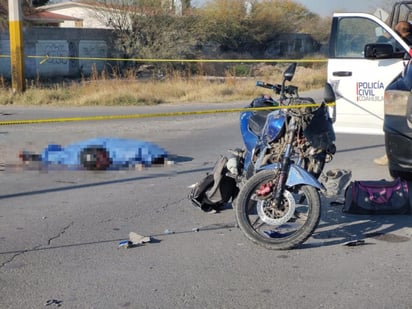
<instances>
[{"instance_id":1,"label":"utility pole painted yellow and white beside the block wall","mask_svg":"<svg viewBox=\"0 0 412 309\"><path fill-rule=\"evenodd\" d=\"M24 49L21 0L9 0L10 63L13 92L23 92Z\"/></svg>"}]
</instances>

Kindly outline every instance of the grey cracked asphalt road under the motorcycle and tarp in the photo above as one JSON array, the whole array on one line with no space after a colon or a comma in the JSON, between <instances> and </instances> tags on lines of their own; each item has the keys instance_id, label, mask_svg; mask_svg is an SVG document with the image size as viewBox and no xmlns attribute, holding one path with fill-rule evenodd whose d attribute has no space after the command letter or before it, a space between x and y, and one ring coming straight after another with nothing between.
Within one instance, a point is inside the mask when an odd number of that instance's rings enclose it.
<instances>
[{"instance_id":1,"label":"grey cracked asphalt road under the motorcycle and tarp","mask_svg":"<svg viewBox=\"0 0 412 309\"><path fill-rule=\"evenodd\" d=\"M0 120L141 111L3 106ZM105 172L18 164L21 149L107 136L154 142L175 164ZM243 236L233 209L192 207L187 186L239 145L237 113L0 126L0 307L412 307L410 215L346 215L330 204L335 199L323 199L313 236L297 249L271 251ZM337 147L326 170L389 179L373 163L384 153L383 136L338 134ZM152 242L119 248L129 232ZM344 245L357 239L365 245Z\"/></svg>"}]
</instances>

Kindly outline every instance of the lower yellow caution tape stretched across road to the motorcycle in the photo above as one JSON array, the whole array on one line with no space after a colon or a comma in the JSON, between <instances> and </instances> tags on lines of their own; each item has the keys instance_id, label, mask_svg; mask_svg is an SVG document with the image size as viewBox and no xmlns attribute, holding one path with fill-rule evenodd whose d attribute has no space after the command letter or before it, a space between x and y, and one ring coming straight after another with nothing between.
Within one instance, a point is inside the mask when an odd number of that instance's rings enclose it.
<instances>
[{"instance_id":1,"label":"lower yellow caution tape stretched across road to the motorcycle","mask_svg":"<svg viewBox=\"0 0 412 309\"><path fill-rule=\"evenodd\" d=\"M326 105L335 106L335 103L329 103ZM0 121L0 126L19 125L19 124L21 125L21 124L55 123L55 122L156 118L156 117L172 117L172 116L187 116L187 115L202 115L202 114L234 113L234 112L256 111L256 110L292 109L292 108L305 108L305 107L319 107L319 104L304 104L304 105L299 104L299 105L257 107L257 108L213 109L213 110L201 110L201 111L191 111L191 112L169 112L169 113L154 113L154 114L129 114L129 115L85 116L85 117L67 117L67 118L29 119L29 120L23 120L23 119L22 120L7 120L7 121Z\"/></svg>"}]
</instances>

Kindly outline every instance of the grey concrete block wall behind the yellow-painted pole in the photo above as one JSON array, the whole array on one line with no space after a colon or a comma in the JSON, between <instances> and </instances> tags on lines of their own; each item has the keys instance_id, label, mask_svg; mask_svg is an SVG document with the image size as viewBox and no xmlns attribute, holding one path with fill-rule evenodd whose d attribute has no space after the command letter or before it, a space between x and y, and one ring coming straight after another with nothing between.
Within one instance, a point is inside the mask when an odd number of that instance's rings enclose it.
<instances>
[{"instance_id":1,"label":"grey concrete block wall behind the yellow-painted pole","mask_svg":"<svg viewBox=\"0 0 412 309\"><path fill-rule=\"evenodd\" d=\"M113 34L106 29L32 28L23 30L24 75L26 78L88 76L95 68L106 69L113 58ZM10 78L9 34L0 32L0 76ZM69 59L45 56L70 57ZM38 58L41 56L41 58Z\"/></svg>"}]
</instances>

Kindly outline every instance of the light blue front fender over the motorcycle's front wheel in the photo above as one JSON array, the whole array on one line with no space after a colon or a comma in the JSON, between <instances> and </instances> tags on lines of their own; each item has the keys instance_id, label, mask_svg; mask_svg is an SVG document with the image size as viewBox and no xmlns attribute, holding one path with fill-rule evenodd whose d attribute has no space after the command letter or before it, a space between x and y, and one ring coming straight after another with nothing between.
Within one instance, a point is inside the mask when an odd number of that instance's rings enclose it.
<instances>
[{"instance_id":1,"label":"light blue front fender over the motorcycle's front wheel","mask_svg":"<svg viewBox=\"0 0 412 309\"><path fill-rule=\"evenodd\" d=\"M273 163L262 166L257 172L263 170L278 170L280 169L280 163ZM293 187L296 185L309 185L319 190L324 190L324 186L315 178L312 174L306 171L304 168L296 164L291 164L286 186Z\"/></svg>"}]
</instances>

